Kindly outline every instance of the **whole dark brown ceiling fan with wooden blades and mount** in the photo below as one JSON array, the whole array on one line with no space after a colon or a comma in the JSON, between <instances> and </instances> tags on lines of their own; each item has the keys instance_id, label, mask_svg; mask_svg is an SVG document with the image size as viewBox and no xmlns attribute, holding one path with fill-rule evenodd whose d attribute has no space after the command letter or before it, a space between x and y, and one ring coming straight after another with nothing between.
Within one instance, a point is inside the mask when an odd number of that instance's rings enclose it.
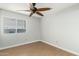
<instances>
[{"instance_id":1,"label":"whole dark brown ceiling fan with wooden blades and mount","mask_svg":"<svg viewBox=\"0 0 79 59\"><path fill-rule=\"evenodd\" d=\"M43 11L48 11L50 10L51 8L37 8L35 7L36 6L36 3L29 3L30 5L30 10L22 10L22 11L28 11L28 12L31 12L29 17L31 17L33 14L37 14L39 16L44 16L41 12Z\"/></svg>"}]
</instances>

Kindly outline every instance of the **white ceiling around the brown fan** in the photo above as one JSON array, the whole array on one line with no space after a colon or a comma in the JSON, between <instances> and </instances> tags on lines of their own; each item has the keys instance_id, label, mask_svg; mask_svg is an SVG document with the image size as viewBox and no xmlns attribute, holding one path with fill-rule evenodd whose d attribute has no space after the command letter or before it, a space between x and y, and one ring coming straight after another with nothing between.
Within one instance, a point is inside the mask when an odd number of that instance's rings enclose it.
<instances>
[{"instance_id":1,"label":"white ceiling around the brown fan","mask_svg":"<svg viewBox=\"0 0 79 59\"><path fill-rule=\"evenodd\" d=\"M50 7L52 10L47 11L45 13L56 13L59 12L69 6L75 5L75 3L37 3L36 7ZM29 10L29 4L28 3L0 3L0 8L11 10L23 14L29 14L29 12L25 11L18 11L18 10Z\"/></svg>"}]
</instances>

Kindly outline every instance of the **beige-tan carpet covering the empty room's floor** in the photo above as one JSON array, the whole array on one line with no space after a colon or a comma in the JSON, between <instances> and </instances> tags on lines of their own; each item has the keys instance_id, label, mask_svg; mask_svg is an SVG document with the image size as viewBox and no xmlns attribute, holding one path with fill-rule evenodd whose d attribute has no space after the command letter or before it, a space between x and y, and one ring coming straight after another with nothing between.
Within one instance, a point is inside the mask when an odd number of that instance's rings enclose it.
<instances>
[{"instance_id":1,"label":"beige-tan carpet covering the empty room's floor","mask_svg":"<svg viewBox=\"0 0 79 59\"><path fill-rule=\"evenodd\" d=\"M0 51L0 56L75 56L43 42L34 42Z\"/></svg>"}]
</instances>

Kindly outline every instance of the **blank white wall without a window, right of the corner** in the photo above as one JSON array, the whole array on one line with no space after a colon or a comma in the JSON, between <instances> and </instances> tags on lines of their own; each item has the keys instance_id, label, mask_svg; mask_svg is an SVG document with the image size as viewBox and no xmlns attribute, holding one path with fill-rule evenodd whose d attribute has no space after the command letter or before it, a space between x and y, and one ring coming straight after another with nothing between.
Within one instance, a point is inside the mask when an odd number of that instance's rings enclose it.
<instances>
[{"instance_id":1,"label":"blank white wall without a window, right of the corner","mask_svg":"<svg viewBox=\"0 0 79 59\"><path fill-rule=\"evenodd\" d=\"M42 39L79 53L79 4L42 19Z\"/></svg>"}]
</instances>

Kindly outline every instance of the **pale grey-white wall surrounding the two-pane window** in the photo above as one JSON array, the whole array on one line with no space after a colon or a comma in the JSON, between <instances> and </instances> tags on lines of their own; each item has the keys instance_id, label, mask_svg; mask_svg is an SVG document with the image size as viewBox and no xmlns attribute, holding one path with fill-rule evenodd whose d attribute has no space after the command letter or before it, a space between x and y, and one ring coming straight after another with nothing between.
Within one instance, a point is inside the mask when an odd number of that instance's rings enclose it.
<instances>
[{"instance_id":1,"label":"pale grey-white wall surrounding the two-pane window","mask_svg":"<svg viewBox=\"0 0 79 59\"><path fill-rule=\"evenodd\" d=\"M15 34L5 34L1 33L0 48L7 48L10 46L15 46L18 44L24 44L40 40L40 20L37 17L28 17L27 15L1 10L1 18L3 17L13 17L16 19L26 20L26 33L15 33ZM2 27L1 27L2 28Z\"/></svg>"}]
</instances>

